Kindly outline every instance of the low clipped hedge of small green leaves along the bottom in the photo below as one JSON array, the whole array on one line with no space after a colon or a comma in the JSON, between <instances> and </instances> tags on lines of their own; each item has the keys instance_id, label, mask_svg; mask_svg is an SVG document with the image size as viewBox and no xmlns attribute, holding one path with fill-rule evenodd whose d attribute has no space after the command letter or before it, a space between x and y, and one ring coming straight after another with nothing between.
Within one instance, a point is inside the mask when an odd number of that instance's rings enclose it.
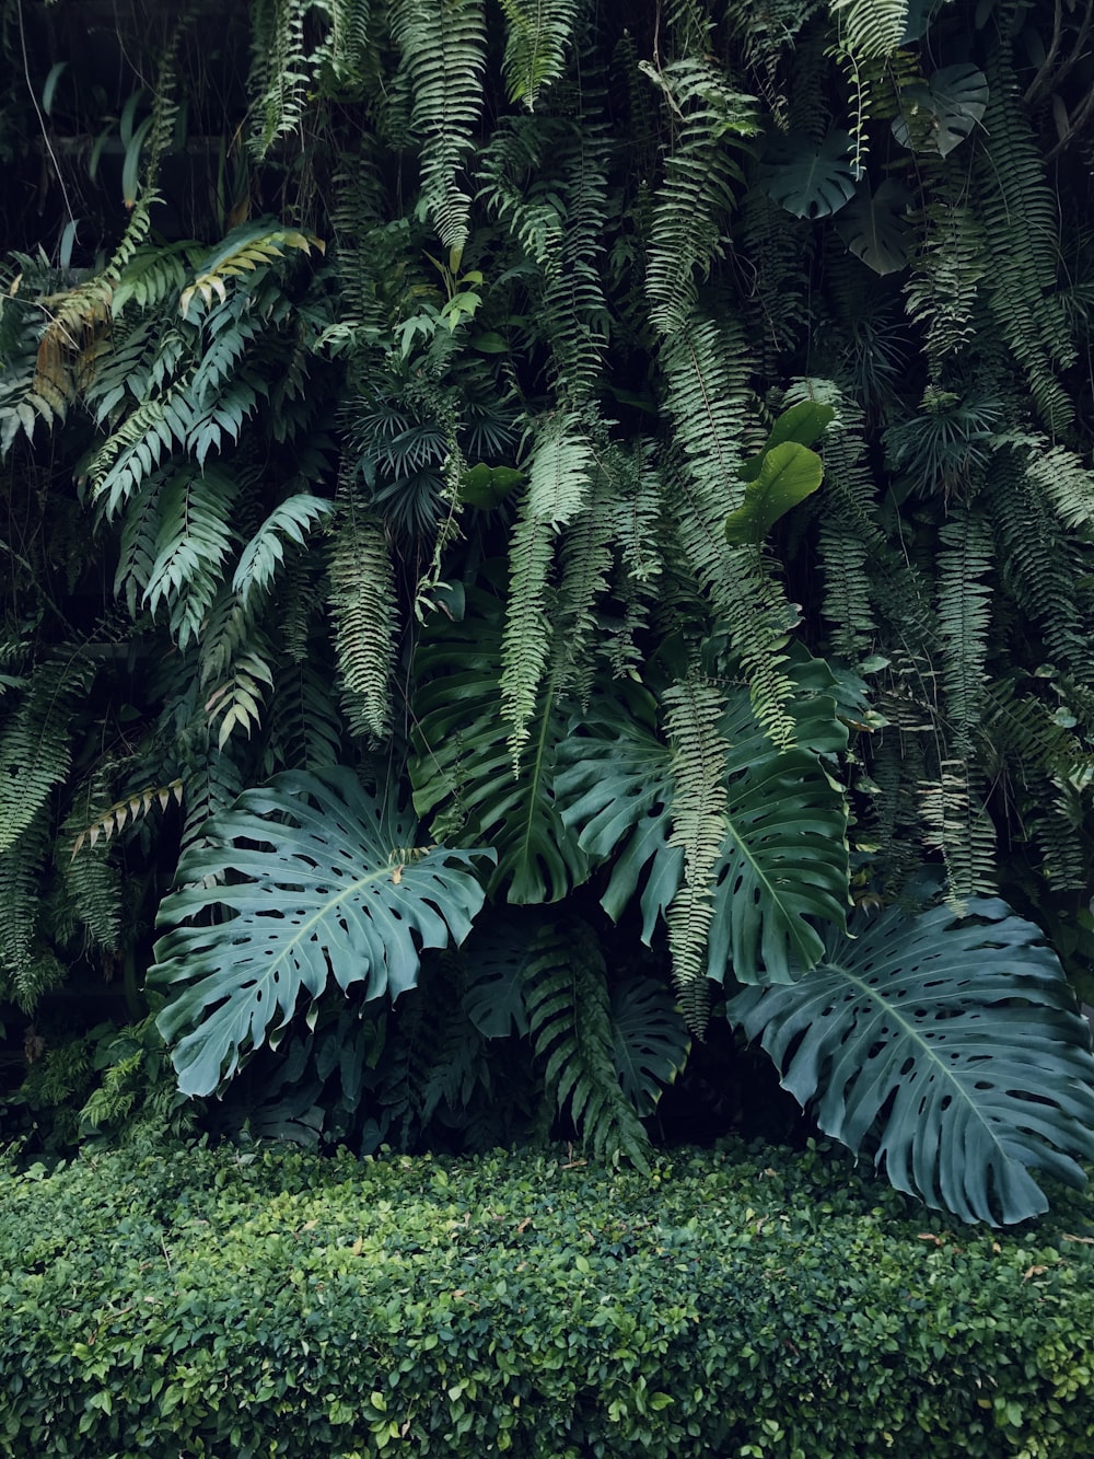
<instances>
[{"instance_id":1,"label":"low clipped hedge of small green leaves along the bottom","mask_svg":"<svg viewBox=\"0 0 1094 1459\"><path fill-rule=\"evenodd\" d=\"M820 1148L0 1179L0 1453L1094 1453L1085 1196L1001 1234Z\"/></svg>"}]
</instances>

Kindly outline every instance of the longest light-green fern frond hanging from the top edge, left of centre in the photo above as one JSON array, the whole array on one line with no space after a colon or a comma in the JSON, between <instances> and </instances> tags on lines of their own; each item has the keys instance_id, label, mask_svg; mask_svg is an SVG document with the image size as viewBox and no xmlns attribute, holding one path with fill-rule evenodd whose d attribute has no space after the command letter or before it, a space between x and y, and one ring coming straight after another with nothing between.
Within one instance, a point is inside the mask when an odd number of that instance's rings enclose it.
<instances>
[{"instance_id":1,"label":"longest light-green fern frond hanging from the top edge, left of centre","mask_svg":"<svg viewBox=\"0 0 1094 1459\"><path fill-rule=\"evenodd\" d=\"M458 263L471 200L459 172L483 102L486 16L481 0L394 0L391 29L414 96L422 139L422 201Z\"/></svg>"}]
</instances>

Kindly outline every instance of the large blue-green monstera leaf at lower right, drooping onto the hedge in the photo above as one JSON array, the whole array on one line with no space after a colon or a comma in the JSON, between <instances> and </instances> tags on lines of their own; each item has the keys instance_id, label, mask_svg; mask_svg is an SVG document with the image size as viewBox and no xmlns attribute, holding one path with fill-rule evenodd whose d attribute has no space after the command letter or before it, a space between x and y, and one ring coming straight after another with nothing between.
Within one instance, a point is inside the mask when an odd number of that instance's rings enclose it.
<instances>
[{"instance_id":1,"label":"large blue-green monstera leaf at lower right, drooping onto the hedge","mask_svg":"<svg viewBox=\"0 0 1094 1459\"><path fill-rule=\"evenodd\" d=\"M1094 1156L1090 1029L1040 928L995 899L884 912L831 937L792 988L745 989L729 1018L817 1123L899 1191L966 1221L1047 1208L1030 1170L1081 1185Z\"/></svg>"}]
</instances>

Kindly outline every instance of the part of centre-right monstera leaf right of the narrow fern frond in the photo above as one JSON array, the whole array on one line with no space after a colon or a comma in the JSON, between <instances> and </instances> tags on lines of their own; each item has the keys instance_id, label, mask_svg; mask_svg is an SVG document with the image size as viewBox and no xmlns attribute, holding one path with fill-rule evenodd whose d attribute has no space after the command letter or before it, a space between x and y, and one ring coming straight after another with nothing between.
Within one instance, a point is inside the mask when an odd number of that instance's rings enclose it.
<instances>
[{"instance_id":1,"label":"part of centre-right monstera leaf right of the narrow fern frond","mask_svg":"<svg viewBox=\"0 0 1094 1459\"><path fill-rule=\"evenodd\" d=\"M843 926L847 907L847 811L815 744L846 746L826 694L791 705L799 744L775 750L741 692L722 718L732 746L729 830L715 868L707 976L789 983L824 953L815 922Z\"/></svg>"}]
</instances>

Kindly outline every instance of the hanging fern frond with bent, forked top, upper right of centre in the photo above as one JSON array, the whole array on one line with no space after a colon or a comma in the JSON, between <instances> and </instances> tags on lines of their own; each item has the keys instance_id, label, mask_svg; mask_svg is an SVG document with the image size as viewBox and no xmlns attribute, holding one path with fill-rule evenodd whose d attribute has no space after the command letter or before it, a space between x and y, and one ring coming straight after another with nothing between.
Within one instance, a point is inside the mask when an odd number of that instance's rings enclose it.
<instances>
[{"instance_id":1,"label":"hanging fern frond with bent, forked top, upper right of centre","mask_svg":"<svg viewBox=\"0 0 1094 1459\"><path fill-rule=\"evenodd\" d=\"M729 85L729 77L700 57L642 69L665 95L678 118L678 134L665 163L665 181L653 197L653 235L646 263L651 322L662 334L683 328L691 315L697 283L721 255L734 188L744 179L732 146L760 130L756 98Z\"/></svg>"}]
</instances>

